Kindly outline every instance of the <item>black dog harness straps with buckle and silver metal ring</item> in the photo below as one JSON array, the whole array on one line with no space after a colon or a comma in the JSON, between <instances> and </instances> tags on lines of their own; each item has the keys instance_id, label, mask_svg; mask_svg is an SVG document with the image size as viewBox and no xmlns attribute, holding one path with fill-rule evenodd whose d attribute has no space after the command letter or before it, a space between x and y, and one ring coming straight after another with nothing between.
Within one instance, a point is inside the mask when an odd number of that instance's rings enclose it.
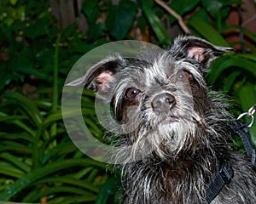
<instances>
[{"instance_id":1,"label":"black dog harness straps with buckle and silver metal ring","mask_svg":"<svg viewBox=\"0 0 256 204\"><path fill-rule=\"evenodd\" d=\"M253 167L256 167L256 150L253 146L253 141L248 134L248 129L253 126L254 116L256 111L256 105L253 105L247 112L242 113L237 119L230 124L230 129L233 133L236 133L241 138L241 141L247 151L247 156L251 160ZM245 122L241 122L240 119L243 116L251 118L249 125ZM234 176L234 171L230 164L226 161L222 161L218 167L218 171L213 174L212 180L207 184L207 203L211 203L218 193L224 188L225 184L229 184Z\"/></svg>"}]
</instances>

